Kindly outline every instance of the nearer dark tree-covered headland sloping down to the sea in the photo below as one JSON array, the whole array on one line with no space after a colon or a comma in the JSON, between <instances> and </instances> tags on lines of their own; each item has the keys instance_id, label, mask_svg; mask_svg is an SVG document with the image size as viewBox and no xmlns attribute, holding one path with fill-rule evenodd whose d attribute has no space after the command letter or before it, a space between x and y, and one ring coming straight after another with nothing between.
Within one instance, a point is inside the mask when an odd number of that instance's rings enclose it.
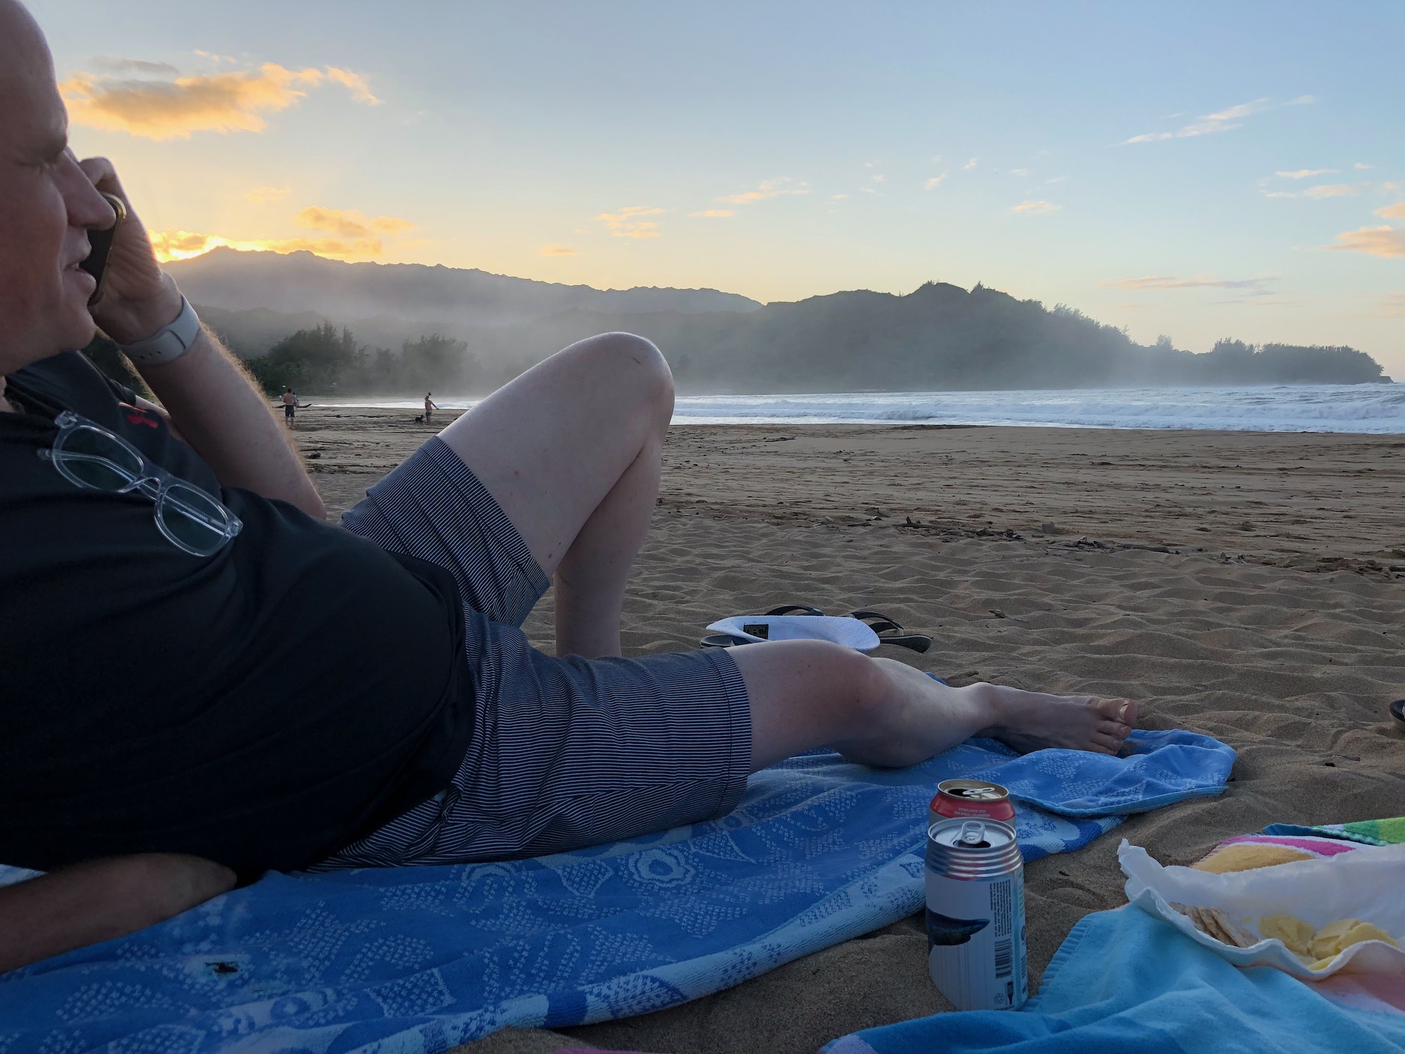
<instances>
[{"instance_id":1,"label":"nearer dark tree-covered headland sloping down to the sea","mask_svg":"<svg viewBox=\"0 0 1405 1054\"><path fill-rule=\"evenodd\" d=\"M687 392L982 391L1388 381L1350 347L1221 340L1205 354L1121 329L1062 305L976 285L915 292L837 292L745 315L632 318L566 312L493 333L457 333L481 368L516 372L573 340L627 329L653 340ZM485 377L485 379L489 379Z\"/></svg>"}]
</instances>

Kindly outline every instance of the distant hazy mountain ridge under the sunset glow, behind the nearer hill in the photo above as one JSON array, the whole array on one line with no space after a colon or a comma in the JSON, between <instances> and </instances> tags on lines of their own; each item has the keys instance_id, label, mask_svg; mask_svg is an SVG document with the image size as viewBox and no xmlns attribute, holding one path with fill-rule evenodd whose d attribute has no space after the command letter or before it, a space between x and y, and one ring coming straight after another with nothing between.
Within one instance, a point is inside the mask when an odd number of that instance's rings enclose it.
<instances>
[{"instance_id":1,"label":"distant hazy mountain ridge under the sunset glow, behind the nearer hill","mask_svg":"<svg viewBox=\"0 0 1405 1054\"><path fill-rule=\"evenodd\" d=\"M327 319L388 315L437 323L507 326L563 311L693 315L762 306L746 297L717 289L594 289L443 266L341 263L306 252L244 253L221 247L169 263L166 270L192 304L226 311L313 312Z\"/></svg>"}]
</instances>

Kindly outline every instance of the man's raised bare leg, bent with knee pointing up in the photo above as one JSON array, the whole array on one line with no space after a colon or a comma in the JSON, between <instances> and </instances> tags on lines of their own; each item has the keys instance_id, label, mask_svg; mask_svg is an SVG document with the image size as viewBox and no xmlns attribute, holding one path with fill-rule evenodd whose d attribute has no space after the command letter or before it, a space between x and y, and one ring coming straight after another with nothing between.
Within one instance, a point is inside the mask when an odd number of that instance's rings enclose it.
<instances>
[{"instance_id":1,"label":"man's raised bare leg, bent with knee pointing up","mask_svg":"<svg viewBox=\"0 0 1405 1054\"><path fill-rule=\"evenodd\" d=\"M556 653L620 653L620 609L659 493L673 377L629 333L572 344L440 434L556 585Z\"/></svg>"}]
</instances>

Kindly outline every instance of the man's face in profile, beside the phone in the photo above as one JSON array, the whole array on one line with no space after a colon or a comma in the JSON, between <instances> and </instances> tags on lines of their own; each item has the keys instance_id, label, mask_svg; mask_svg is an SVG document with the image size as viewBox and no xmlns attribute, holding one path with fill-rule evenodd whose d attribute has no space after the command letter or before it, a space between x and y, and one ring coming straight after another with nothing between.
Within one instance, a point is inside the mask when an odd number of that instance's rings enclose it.
<instances>
[{"instance_id":1,"label":"man's face in profile, beside the phone","mask_svg":"<svg viewBox=\"0 0 1405 1054\"><path fill-rule=\"evenodd\" d=\"M67 114L38 27L0 0L0 375L93 339L87 232L112 209L67 150Z\"/></svg>"}]
</instances>

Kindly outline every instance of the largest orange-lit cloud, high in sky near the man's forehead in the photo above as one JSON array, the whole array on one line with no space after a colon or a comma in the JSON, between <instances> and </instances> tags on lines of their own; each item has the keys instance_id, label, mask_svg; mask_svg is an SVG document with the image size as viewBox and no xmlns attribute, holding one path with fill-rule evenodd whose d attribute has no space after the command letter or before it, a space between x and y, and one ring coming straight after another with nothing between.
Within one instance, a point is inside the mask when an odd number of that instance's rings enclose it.
<instances>
[{"instance_id":1,"label":"largest orange-lit cloud, high in sky near the man's forehead","mask_svg":"<svg viewBox=\"0 0 1405 1054\"><path fill-rule=\"evenodd\" d=\"M74 73L59 90L74 124L148 139L188 139L192 132L261 132L268 126L264 114L296 105L326 80L351 89L354 101L379 103L365 80L347 70L289 70L275 62L174 80Z\"/></svg>"}]
</instances>

